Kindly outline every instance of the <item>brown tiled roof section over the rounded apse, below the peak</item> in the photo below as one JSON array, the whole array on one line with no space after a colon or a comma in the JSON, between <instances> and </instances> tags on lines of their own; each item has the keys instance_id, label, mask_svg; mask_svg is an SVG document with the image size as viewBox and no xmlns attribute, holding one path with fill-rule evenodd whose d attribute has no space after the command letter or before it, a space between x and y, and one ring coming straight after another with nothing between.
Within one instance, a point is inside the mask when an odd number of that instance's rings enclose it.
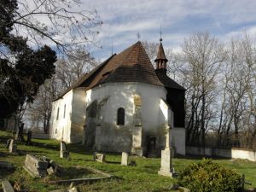
<instances>
[{"instance_id":1,"label":"brown tiled roof section over the rounded apse, below the peak","mask_svg":"<svg viewBox=\"0 0 256 192\"><path fill-rule=\"evenodd\" d=\"M148 84L161 84L157 78L154 67L138 41L125 49L119 55L113 57L99 75L102 79L98 84L109 82L143 82Z\"/></svg>"}]
</instances>

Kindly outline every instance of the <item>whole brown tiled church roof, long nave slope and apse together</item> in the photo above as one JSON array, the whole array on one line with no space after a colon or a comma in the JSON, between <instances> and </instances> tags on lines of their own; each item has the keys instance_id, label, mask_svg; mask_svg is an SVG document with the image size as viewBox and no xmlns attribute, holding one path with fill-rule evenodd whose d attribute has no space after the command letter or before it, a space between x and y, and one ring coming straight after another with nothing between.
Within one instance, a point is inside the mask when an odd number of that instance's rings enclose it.
<instances>
[{"instance_id":1,"label":"whole brown tiled church roof, long nave slope and apse together","mask_svg":"<svg viewBox=\"0 0 256 192\"><path fill-rule=\"evenodd\" d=\"M118 55L110 56L90 73L84 74L57 99L77 87L84 87L84 90L90 90L96 85L110 82L143 82L164 85L154 72L154 67L143 48L143 44L138 41Z\"/></svg>"}]
</instances>

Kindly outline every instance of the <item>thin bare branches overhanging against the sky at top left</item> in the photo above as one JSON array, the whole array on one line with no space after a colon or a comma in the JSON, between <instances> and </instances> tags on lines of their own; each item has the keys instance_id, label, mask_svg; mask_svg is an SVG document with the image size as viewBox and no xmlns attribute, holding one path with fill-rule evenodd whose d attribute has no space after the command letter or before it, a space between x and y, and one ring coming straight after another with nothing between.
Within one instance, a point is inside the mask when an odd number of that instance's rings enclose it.
<instances>
[{"instance_id":1,"label":"thin bare branches overhanging against the sky at top left","mask_svg":"<svg viewBox=\"0 0 256 192\"><path fill-rule=\"evenodd\" d=\"M26 37L31 46L49 44L61 54L73 55L75 50L95 44L102 21L96 10L80 9L78 0L17 0L14 18L0 27L13 26L16 36ZM4 53L4 50L2 54Z\"/></svg>"}]
</instances>

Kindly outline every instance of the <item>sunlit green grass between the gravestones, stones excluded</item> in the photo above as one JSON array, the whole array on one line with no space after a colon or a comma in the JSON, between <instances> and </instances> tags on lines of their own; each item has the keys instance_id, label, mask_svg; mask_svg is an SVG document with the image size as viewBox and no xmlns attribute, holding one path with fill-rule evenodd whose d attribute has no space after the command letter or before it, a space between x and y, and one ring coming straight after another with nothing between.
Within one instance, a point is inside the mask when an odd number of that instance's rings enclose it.
<instances>
[{"instance_id":1,"label":"sunlit green grass between the gravestones, stones excluded","mask_svg":"<svg viewBox=\"0 0 256 192\"><path fill-rule=\"evenodd\" d=\"M67 188L63 185L49 184L49 177L33 178L23 168L26 155L9 154L5 147L5 141L8 134L0 131L0 161L9 161L15 166L13 172L0 172L0 179L3 177L9 179L12 183L18 183L22 189L27 191L49 191L50 189ZM108 163L99 163L92 160L92 153L85 152L83 145L68 144L67 150L70 151L71 160L59 158L60 143L54 140L32 139L33 143L47 144L53 148L41 146L26 146L18 143L18 149L29 154L46 155L50 159L55 160L58 165L67 168L70 176L81 177L83 175L83 167L90 166L102 172L108 172L119 179L113 178L96 183L79 184L80 191L171 191L168 187L174 182L174 179L169 177L162 177L157 174L160 170L160 158L139 158L132 156L131 160L137 162L137 166L120 166L121 154L107 154ZM195 162L197 159L175 158L173 164L175 170L178 172L184 166ZM253 183L256 187L256 162L247 160L214 160L219 164L227 166L240 174L246 175L246 180ZM76 171L78 170L79 171ZM85 169L84 169L85 170ZM86 170L84 171L86 174ZM82 175L81 175L82 174ZM0 190L1 191L1 190Z\"/></svg>"}]
</instances>

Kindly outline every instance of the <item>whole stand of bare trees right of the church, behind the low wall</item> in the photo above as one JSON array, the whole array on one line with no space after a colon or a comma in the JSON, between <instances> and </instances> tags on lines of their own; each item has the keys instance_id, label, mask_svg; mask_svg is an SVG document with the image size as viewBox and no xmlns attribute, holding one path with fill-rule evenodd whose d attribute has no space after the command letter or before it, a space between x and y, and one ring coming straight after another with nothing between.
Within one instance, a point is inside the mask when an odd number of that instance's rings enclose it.
<instances>
[{"instance_id":1,"label":"whole stand of bare trees right of the church, behind the low wall","mask_svg":"<svg viewBox=\"0 0 256 192\"><path fill-rule=\"evenodd\" d=\"M168 75L187 89L187 144L256 148L256 46L246 33L223 44L209 33L166 49ZM157 44L143 43L154 61Z\"/></svg>"}]
</instances>

